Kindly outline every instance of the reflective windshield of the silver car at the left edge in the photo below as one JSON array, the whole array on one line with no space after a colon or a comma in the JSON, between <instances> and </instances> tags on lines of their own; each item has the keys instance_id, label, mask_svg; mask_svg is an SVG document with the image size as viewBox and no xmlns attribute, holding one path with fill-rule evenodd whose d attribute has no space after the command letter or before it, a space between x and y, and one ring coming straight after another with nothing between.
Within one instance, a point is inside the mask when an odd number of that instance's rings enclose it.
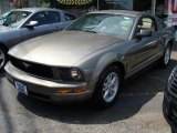
<instances>
[{"instance_id":1,"label":"reflective windshield of the silver car at the left edge","mask_svg":"<svg viewBox=\"0 0 177 133\"><path fill-rule=\"evenodd\" d=\"M11 11L0 17L0 24L6 27L19 27L31 12L28 11Z\"/></svg>"}]
</instances>

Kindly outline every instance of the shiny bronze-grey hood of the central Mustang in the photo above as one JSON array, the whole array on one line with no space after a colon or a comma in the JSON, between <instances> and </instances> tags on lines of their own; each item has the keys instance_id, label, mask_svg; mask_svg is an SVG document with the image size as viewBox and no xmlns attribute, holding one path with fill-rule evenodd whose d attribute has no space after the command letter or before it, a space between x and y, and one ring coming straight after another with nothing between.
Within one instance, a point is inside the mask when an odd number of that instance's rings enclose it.
<instances>
[{"instance_id":1,"label":"shiny bronze-grey hood of the central Mustang","mask_svg":"<svg viewBox=\"0 0 177 133\"><path fill-rule=\"evenodd\" d=\"M123 41L97 33L62 31L22 42L9 54L41 64L72 66L88 54Z\"/></svg>"}]
</instances>

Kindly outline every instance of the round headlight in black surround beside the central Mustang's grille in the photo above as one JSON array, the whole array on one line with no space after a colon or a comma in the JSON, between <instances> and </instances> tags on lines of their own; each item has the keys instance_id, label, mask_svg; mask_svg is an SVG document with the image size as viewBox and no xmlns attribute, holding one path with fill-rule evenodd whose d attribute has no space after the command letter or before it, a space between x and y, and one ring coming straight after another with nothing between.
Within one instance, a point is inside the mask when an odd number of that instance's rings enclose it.
<instances>
[{"instance_id":1,"label":"round headlight in black surround beside the central Mustang's grille","mask_svg":"<svg viewBox=\"0 0 177 133\"><path fill-rule=\"evenodd\" d=\"M60 79L62 81L79 81L79 82L84 81L84 76L81 70L76 68L59 69L59 71L60 71Z\"/></svg>"}]
</instances>

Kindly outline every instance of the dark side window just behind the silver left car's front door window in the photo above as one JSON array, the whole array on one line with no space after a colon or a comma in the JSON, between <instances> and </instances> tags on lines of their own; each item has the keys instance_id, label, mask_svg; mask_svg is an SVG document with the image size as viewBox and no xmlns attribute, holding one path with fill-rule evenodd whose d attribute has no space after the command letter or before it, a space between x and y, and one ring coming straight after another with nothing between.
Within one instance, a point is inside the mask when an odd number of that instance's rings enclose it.
<instances>
[{"instance_id":1,"label":"dark side window just behind the silver left car's front door window","mask_svg":"<svg viewBox=\"0 0 177 133\"><path fill-rule=\"evenodd\" d=\"M49 23L56 23L61 22L60 13L54 11L49 11L46 13Z\"/></svg>"}]
</instances>

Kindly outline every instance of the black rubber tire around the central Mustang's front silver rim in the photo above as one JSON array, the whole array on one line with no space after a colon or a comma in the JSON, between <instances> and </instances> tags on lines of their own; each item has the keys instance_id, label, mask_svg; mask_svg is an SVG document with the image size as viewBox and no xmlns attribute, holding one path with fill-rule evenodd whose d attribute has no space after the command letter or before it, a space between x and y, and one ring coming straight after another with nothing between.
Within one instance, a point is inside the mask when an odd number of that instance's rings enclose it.
<instances>
[{"instance_id":1,"label":"black rubber tire around the central Mustang's front silver rim","mask_svg":"<svg viewBox=\"0 0 177 133\"><path fill-rule=\"evenodd\" d=\"M106 76L111 73L111 72L116 72L117 75L118 75L118 80L119 80L119 84L118 84L118 90L117 90L117 93L114 98L114 100L112 100L111 102L106 102L104 99L103 99L103 83L106 79ZM93 95L93 100L94 100L94 104L100 108L100 109L106 109L111 105L113 105L116 101L116 98L117 98L117 94L119 92L119 88L121 88L121 83L123 81L123 76L122 76L122 73L119 71L119 69L116 66L116 65L112 65L110 68L107 68L106 70L104 70L98 79L98 82L96 84L96 88L95 88L95 92L94 92L94 95Z\"/></svg>"}]
</instances>

